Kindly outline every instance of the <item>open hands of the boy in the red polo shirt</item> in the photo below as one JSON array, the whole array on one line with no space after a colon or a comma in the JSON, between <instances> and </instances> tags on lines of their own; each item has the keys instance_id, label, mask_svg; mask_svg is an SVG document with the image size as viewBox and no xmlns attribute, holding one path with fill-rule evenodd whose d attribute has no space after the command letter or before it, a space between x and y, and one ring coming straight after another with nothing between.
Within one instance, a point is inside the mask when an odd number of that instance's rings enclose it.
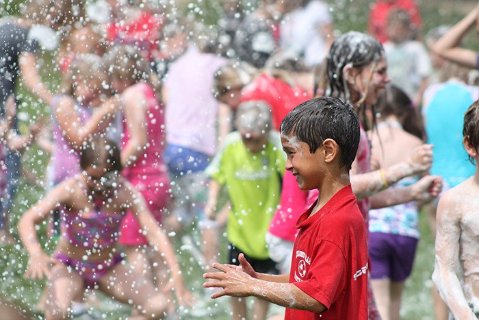
<instances>
[{"instance_id":1,"label":"open hands of the boy in the red polo shirt","mask_svg":"<svg viewBox=\"0 0 479 320\"><path fill-rule=\"evenodd\" d=\"M243 254L238 256L241 265L213 263L212 267L220 272L208 272L203 274L203 278L213 281L203 283L205 288L223 288L218 293L213 293L211 299L216 299L224 295L231 297L247 297L251 295L251 288L257 278L257 273L251 267Z\"/></svg>"}]
</instances>

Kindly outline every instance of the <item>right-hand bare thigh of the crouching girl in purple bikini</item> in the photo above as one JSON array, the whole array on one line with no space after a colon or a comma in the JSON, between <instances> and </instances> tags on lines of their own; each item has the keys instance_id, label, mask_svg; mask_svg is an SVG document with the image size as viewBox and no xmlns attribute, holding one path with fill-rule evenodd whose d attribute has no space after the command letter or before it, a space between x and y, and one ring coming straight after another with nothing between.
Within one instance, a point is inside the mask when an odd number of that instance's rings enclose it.
<instances>
[{"instance_id":1,"label":"right-hand bare thigh of the crouching girl in purple bikini","mask_svg":"<svg viewBox=\"0 0 479 320\"><path fill-rule=\"evenodd\" d=\"M141 273L128 265L116 264L99 281L100 290L125 304L132 304L138 310L138 317L130 319L161 319L168 310L166 297Z\"/></svg>"}]
</instances>

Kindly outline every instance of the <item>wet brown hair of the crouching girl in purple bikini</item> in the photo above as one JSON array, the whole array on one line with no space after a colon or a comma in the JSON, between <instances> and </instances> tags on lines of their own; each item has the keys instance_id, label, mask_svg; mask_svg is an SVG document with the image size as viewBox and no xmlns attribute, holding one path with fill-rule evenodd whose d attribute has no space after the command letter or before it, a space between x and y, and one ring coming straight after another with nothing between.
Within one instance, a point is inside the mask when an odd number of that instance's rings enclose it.
<instances>
[{"instance_id":1,"label":"wet brown hair of the crouching girl in purple bikini","mask_svg":"<svg viewBox=\"0 0 479 320\"><path fill-rule=\"evenodd\" d=\"M80 167L86 170L90 166L105 164L106 171L123 169L120 158L120 148L109 138L95 136L81 148Z\"/></svg>"}]
</instances>

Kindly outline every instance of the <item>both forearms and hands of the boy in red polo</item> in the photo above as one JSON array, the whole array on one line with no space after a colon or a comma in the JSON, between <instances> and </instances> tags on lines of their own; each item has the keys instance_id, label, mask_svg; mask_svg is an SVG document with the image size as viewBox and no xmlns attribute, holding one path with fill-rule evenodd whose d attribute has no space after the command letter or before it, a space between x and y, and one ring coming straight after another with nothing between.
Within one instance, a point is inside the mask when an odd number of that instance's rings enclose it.
<instances>
[{"instance_id":1,"label":"both forearms and hands of the boy in red polo","mask_svg":"<svg viewBox=\"0 0 479 320\"><path fill-rule=\"evenodd\" d=\"M214 281L205 282L205 288L223 288L214 293L216 299L224 295L231 297L258 297L273 304L286 308L323 312L326 307L320 301L313 299L294 284L287 283L288 275L266 275L256 273L246 261L243 254L238 257L241 266L213 263L213 268L220 272L209 272L203 278ZM285 281L286 280L286 281Z\"/></svg>"}]
</instances>

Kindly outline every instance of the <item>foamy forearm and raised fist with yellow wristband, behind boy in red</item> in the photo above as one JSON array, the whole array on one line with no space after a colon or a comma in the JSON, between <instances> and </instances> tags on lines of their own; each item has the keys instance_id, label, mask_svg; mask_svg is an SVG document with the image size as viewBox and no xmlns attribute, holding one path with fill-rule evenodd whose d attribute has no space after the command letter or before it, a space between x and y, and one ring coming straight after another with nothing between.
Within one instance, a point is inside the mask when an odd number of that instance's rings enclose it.
<instances>
[{"instance_id":1,"label":"foamy forearm and raised fist with yellow wristband, behind boy in red","mask_svg":"<svg viewBox=\"0 0 479 320\"><path fill-rule=\"evenodd\" d=\"M420 145L415 148L409 161L368 173L355 174L353 162L351 171L352 192L358 200L370 197L398 182L403 177L427 171L431 165L432 145Z\"/></svg>"}]
</instances>

